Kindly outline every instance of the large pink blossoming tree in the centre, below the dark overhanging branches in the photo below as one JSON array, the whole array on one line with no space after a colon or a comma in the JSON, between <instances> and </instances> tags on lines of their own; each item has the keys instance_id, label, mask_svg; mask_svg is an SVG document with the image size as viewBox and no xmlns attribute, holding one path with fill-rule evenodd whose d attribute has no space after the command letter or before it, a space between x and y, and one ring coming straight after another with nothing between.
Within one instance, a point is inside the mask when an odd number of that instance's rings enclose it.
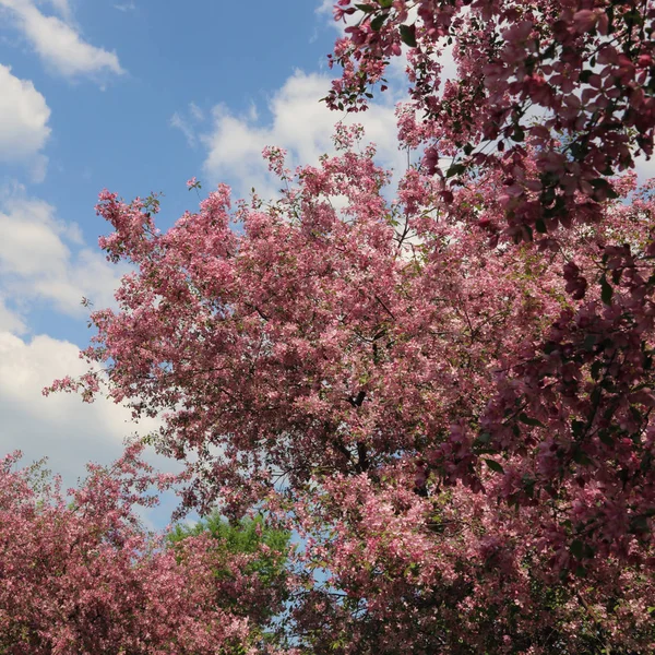
<instances>
[{"instance_id":1,"label":"large pink blossoming tree in the centre, below the dark overhanging branches","mask_svg":"<svg viewBox=\"0 0 655 655\"><path fill-rule=\"evenodd\" d=\"M514 246L501 171L444 196L412 168L390 202L357 136L295 172L270 148L281 200L219 186L165 234L103 192L100 243L134 271L92 314L105 373L55 386L162 416L188 508L306 537L309 652L648 652L650 190L612 179L595 222Z\"/></svg>"}]
</instances>

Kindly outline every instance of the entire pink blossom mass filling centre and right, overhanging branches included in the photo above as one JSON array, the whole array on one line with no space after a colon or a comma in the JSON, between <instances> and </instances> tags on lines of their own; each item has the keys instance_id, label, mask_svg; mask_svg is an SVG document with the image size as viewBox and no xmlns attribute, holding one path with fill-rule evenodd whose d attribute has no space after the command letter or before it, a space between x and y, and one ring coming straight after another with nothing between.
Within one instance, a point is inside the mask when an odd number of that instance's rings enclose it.
<instances>
[{"instance_id":1,"label":"entire pink blossom mass filling centre and right, overhanging branches included","mask_svg":"<svg viewBox=\"0 0 655 655\"><path fill-rule=\"evenodd\" d=\"M162 416L187 509L302 537L288 653L655 652L655 195L631 170L655 9L335 16L329 102L364 108L407 46L398 134L421 164L390 192L338 126L315 166L264 151L278 200L222 184L166 233L156 199L103 192L100 246L133 272L92 314L105 372L52 389Z\"/></svg>"}]
</instances>

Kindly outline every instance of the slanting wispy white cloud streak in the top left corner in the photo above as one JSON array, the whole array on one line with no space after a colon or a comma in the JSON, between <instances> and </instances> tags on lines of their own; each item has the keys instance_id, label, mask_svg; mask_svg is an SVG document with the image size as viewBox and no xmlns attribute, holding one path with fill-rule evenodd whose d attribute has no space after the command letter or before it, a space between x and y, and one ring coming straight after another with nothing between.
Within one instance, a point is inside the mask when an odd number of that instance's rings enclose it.
<instances>
[{"instance_id":1,"label":"slanting wispy white cloud streak in the top left corner","mask_svg":"<svg viewBox=\"0 0 655 655\"><path fill-rule=\"evenodd\" d=\"M67 2L56 1L56 5L64 17L70 13ZM11 13L46 67L55 72L71 79L124 72L116 52L87 44L68 22L70 19L45 15L33 0L0 0L0 7Z\"/></svg>"}]
</instances>

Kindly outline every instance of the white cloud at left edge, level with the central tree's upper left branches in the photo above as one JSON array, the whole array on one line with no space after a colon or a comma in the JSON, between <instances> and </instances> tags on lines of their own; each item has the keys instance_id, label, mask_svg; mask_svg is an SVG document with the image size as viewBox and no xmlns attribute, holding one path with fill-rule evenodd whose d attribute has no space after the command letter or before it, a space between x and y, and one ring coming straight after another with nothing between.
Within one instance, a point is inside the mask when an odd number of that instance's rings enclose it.
<instances>
[{"instance_id":1,"label":"white cloud at left edge, level with the central tree's upper left branches","mask_svg":"<svg viewBox=\"0 0 655 655\"><path fill-rule=\"evenodd\" d=\"M0 294L26 307L47 300L82 315L82 297L112 302L121 271L84 247L75 224L58 221L51 205L21 191L0 201Z\"/></svg>"}]
</instances>

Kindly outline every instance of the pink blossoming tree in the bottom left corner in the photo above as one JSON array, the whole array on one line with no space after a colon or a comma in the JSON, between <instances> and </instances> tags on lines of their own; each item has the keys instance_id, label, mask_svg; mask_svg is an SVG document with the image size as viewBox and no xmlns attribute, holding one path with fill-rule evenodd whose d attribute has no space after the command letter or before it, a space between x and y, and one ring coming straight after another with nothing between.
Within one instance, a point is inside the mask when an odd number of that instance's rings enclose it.
<instances>
[{"instance_id":1,"label":"pink blossoming tree in the bottom left corner","mask_svg":"<svg viewBox=\"0 0 655 655\"><path fill-rule=\"evenodd\" d=\"M207 536L168 548L135 514L169 485L130 446L78 489L0 463L0 652L8 655L261 653L248 607L277 600L246 573L253 556ZM215 571L229 571L217 579ZM229 608L239 599L240 611ZM254 616L254 612L253 612Z\"/></svg>"}]
</instances>

